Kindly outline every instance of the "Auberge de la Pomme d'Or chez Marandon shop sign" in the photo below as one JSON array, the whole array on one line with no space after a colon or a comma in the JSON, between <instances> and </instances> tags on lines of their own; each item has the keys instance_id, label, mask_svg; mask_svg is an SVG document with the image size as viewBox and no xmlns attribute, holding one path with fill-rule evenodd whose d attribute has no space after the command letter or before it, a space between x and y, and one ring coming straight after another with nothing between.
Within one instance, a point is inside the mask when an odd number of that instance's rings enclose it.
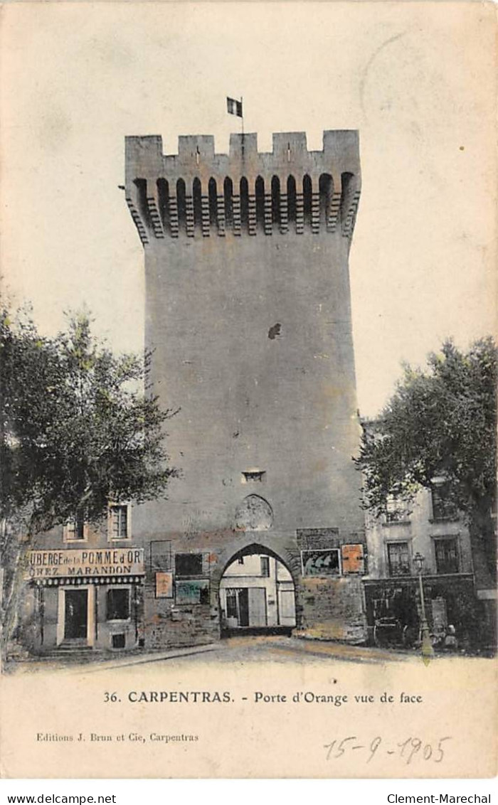
<instances>
[{"instance_id":1,"label":"Auberge de la Pomme d'Or chez Marandon shop sign","mask_svg":"<svg viewBox=\"0 0 498 805\"><path fill-rule=\"evenodd\" d=\"M26 579L143 575L143 548L27 551Z\"/></svg>"}]
</instances>

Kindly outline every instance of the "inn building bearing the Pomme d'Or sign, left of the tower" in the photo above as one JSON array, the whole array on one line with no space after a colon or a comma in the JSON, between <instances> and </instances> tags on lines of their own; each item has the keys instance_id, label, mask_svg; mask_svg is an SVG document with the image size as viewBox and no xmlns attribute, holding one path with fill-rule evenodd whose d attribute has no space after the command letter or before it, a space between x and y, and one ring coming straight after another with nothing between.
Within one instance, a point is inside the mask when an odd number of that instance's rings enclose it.
<instances>
[{"instance_id":1,"label":"inn building bearing the Pomme d'Or sign, left of the tower","mask_svg":"<svg viewBox=\"0 0 498 805\"><path fill-rule=\"evenodd\" d=\"M102 526L81 520L38 535L27 551L19 613L35 654L143 646L143 547L131 506L110 506Z\"/></svg>"}]
</instances>

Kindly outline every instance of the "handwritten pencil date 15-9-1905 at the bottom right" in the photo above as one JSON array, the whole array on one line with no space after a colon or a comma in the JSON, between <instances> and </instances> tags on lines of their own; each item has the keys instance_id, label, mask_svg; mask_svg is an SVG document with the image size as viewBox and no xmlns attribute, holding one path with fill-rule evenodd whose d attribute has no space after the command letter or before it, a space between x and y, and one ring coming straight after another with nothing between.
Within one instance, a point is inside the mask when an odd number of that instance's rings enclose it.
<instances>
[{"instance_id":1,"label":"handwritten pencil date 15-9-1905 at the bottom right","mask_svg":"<svg viewBox=\"0 0 498 805\"><path fill-rule=\"evenodd\" d=\"M434 743L421 741L417 737L408 737L405 741L400 743L392 743L392 741L384 740L380 735L372 738L371 741L362 741L361 738L355 735L349 735L342 738L341 741L337 739L331 741L330 744L324 744L323 748L326 749L326 760L338 760L345 754L357 752L363 755L365 762L370 763L376 756L386 754L392 758L400 758L405 762L406 766L413 761L413 758L421 758L425 762L432 761L434 763L442 763L445 757L445 741L450 741L451 737L446 735L442 738L437 738ZM366 754L365 754L366 753Z\"/></svg>"}]
</instances>

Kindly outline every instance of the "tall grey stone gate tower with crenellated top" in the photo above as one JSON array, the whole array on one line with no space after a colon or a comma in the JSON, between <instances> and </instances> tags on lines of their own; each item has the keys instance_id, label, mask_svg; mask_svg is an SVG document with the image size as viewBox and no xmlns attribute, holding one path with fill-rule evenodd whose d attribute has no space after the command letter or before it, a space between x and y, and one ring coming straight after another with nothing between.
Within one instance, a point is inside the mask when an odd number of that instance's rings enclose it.
<instances>
[{"instance_id":1,"label":"tall grey stone gate tower with crenellated top","mask_svg":"<svg viewBox=\"0 0 498 805\"><path fill-rule=\"evenodd\" d=\"M128 137L126 171L151 383L181 409L168 423L181 479L134 512L151 545L146 644L219 634L222 572L249 551L292 573L297 629L359 640L348 273L358 133L326 131L322 151L308 151L304 133L274 134L272 153L255 134L232 134L228 155L211 136L180 137L177 155L163 155L158 136Z\"/></svg>"}]
</instances>

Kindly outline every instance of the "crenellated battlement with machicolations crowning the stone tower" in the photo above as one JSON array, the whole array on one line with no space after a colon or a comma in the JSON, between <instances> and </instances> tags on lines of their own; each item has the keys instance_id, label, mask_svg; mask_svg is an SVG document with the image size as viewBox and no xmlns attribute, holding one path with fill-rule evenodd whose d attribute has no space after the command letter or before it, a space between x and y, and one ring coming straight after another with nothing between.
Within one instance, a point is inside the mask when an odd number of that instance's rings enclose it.
<instances>
[{"instance_id":1,"label":"crenellated battlement with machicolations crowning the stone tower","mask_svg":"<svg viewBox=\"0 0 498 805\"><path fill-rule=\"evenodd\" d=\"M214 137L178 138L164 155L160 136L126 138L126 192L144 246L151 238L266 236L310 232L351 237L359 203L359 136L324 131L322 151L305 132L273 134L259 152L257 134L231 134L228 154Z\"/></svg>"}]
</instances>

